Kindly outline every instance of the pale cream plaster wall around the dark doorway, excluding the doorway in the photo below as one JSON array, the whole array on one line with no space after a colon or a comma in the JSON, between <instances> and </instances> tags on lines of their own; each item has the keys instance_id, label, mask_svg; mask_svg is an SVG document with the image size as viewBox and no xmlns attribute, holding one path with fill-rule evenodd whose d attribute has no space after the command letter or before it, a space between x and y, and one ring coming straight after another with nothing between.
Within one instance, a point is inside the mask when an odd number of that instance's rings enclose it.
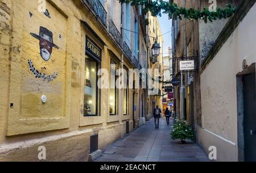
<instances>
[{"instance_id":1,"label":"pale cream plaster wall around the dark doorway, excluding the doorway","mask_svg":"<svg viewBox=\"0 0 256 173\"><path fill-rule=\"evenodd\" d=\"M237 161L237 81L242 61L256 62L256 5L201 74L200 144L218 146L218 161ZM213 140L215 139L215 140Z\"/></svg>"}]
</instances>

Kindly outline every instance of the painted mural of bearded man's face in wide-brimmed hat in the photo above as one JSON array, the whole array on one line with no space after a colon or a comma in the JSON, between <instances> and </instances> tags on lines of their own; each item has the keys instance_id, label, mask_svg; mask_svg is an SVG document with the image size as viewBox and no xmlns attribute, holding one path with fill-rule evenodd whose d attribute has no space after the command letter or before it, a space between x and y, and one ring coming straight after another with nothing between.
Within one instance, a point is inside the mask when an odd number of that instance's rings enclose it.
<instances>
[{"instance_id":1,"label":"painted mural of bearded man's face in wide-brimmed hat","mask_svg":"<svg viewBox=\"0 0 256 173\"><path fill-rule=\"evenodd\" d=\"M52 32L47 28L40 27L39 35L30 33L33 37L39 40L40 55L44 61L48 61L51 58L52 47L59 49L59 47L53 43Z\"/></svg>"}]
</instances>

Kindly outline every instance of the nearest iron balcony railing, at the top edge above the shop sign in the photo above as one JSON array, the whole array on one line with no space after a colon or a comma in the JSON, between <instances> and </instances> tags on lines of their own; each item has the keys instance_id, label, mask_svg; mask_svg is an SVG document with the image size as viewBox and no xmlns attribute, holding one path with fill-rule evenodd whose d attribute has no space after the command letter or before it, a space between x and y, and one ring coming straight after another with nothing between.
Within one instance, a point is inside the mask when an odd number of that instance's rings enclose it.
<instances>
[{"instance_id":1,"label":"nearest iron balcony railing, at the top edge above the shop sign","mask_svg":"<svg viewBox=\"0 0 256 173\"><path fill-rule=\"evenodd\" d=\"M86 1L90 7L96 12L98 18L100 18L101 22L104 24L104 26L107 26L107 12L104 9L104 6L102 6L101 2L99 0L82 0Z\"/></svg>"}]
</instances>

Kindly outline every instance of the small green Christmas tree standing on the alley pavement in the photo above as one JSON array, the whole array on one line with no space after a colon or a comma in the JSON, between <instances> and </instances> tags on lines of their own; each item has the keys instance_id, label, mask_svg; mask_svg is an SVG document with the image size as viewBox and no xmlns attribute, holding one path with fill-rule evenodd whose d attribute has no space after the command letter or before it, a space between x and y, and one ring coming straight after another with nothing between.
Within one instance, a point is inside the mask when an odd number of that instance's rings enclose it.
<instances>
[{"instance_id":1,"label":"small green Christmas tree standing on the alley pavement","mask_svg":"<svg viewBox=\"0 0 256 173\"><path fill-rule=\"evenodd\" d=\"M172 140L181 140L181 144L185 144L185 140L195 140L195 132L191 129L185 120L177 120L171 132Z\"/></svg>"}]
</instances>

